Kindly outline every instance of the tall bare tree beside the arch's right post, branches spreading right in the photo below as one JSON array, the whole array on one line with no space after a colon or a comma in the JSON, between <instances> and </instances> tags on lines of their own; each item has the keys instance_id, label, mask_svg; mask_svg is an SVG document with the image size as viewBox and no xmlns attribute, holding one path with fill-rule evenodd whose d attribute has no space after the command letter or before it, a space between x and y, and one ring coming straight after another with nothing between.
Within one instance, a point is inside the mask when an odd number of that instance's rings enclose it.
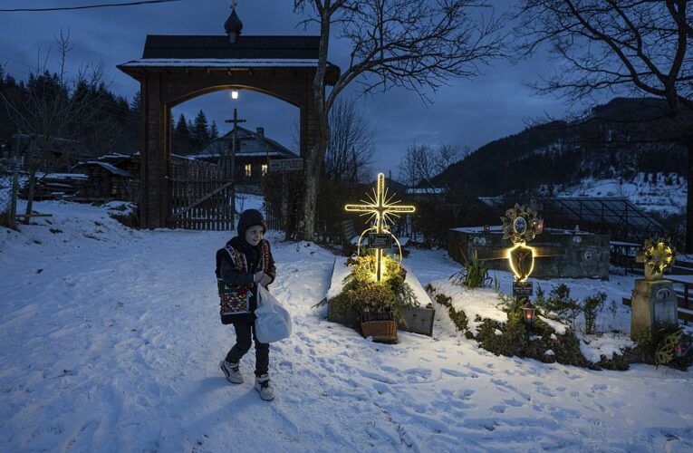
<instances>
[{"instance_id":1,"label":"tall bare tree beside the arch's right post, branches spreading right","mask_svg":"<svg viewBox=\"0 0 693 453\"><path fill-rule=\"evenodd\" d=\"M317 116L314 145L305 155L300 235L312 240L322 161L330 140L329 114L339 94L358 80L362 92L403 87L426 99L449 77L471 77L478 65L501 54L501 24L486 18L477 0L294 0L311 9L306 21L320 25L320 51L313 79ZM490 10L489 10L490 11ZM325 92L333 33L351 42L349 66Z\"/></svg>"}]
</instances>

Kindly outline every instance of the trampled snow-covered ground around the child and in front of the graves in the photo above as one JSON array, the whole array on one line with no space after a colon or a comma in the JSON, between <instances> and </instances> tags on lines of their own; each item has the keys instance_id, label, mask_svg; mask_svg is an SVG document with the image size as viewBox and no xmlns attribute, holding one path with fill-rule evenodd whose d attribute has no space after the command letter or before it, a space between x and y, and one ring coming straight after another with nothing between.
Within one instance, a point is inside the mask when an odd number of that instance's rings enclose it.
<instances>
[{"instance_id":1,"label":"trampled snow-covered ground around the child and in front of the graves","mask_svg":"<svg viewBox=\"0 0 693 453\"><path fill-rule=\"evenodd\" d=\"M112 207L112 205L111 205ZM312 308L334 255L270 232L294 335L274 343L277 397L218 370L214 254L229 234L132 231L106 209L40 202L53 217L0 229L0 445L4 451L691 451L693 373L590 371L496 357L438 307L433 338L373 343ZM412 250L421 284L458 265ZM510 275L496 273L509 291ZM632 277L565 280L607 302ZM557 282L538 282L550 289ZM603 326L627 318L602 313Z\"/></svg>"}]
</instances>

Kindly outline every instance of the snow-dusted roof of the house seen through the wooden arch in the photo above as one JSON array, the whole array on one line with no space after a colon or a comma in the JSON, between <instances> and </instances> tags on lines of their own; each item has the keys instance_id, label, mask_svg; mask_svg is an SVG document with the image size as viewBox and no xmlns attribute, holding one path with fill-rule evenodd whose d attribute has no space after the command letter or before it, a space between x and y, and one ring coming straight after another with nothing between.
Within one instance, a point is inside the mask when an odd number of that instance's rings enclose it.
<instances>
[{"instance_id":1,"label":"snow-dusted roof of the house seen through the wooden arch","mask_svg":"<svg viewBox=\"0 0 693 453\"><path fill-rule=\"evenodd\" d=\"M284 145L268 139L264 134L247 130L237 126L236 136L236 158L242 157L270 157L274 159L295 159L298 157L294 151L284 147ZM231 147L234 130L230 130L222 137L212 140L198 154L190 155L189 158L205 159L217 158L225 154Z\"/></svg>"}]
</instances>

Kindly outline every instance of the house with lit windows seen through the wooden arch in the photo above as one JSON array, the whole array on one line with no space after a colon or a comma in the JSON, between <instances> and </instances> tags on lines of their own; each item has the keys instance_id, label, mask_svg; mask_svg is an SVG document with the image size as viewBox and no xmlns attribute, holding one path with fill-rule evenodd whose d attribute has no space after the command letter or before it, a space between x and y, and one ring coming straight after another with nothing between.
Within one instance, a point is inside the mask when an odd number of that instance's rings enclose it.
<instances>
[{"instance_id":1,"label":"house with lit windows seen through the wooden arch","mask_svg":"<svg viewBox=\"0 0 693 453\"><path fill-rule=\"evenodd\" d=\"M212 140L199 154L188 158L218 164L231 153L234 130ZM267 174L270 159L297 159L298 155L279 142L265 136L265 128L255 132L236 126L236 187L242 191L262 193L262 178Z\"/></svg>"}]
</instances>

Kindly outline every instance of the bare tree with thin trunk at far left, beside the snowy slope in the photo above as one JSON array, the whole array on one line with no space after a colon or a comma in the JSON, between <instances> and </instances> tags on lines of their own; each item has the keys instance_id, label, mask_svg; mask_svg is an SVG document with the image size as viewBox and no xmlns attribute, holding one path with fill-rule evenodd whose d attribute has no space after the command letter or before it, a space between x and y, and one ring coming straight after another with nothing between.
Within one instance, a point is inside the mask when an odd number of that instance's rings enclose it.
<instances>
[{"instance_id":1,"label":"bare tree with thin trunk at far left, beside the snowy slope","mask_svg":"<svg viewBox=\"0 0 693 453\"><path fill-rule=\"evenodd\" d=\"M72 49L70 35L56 37L59 52L60 72L51 74L46 69L46 63L39 66L36 72L29 74L24 93L18 93L16 98L8 99L0 93L0 100L5 103L10 118L17 130L29 137L31 143L25 154L25 167L29 171L27 182L26 217L28 224L34 202L36 174L39 171L52 169L52 149L56 140L63 139L64 134L73 124L89 122L99 109L92 105L90 92L82 90L75 95L78 87L86 86L94 89L101 82L103 66L83 67L75 78L68 78L65 71L67 53ZM50 52L49 52L50 53Z\"/></svg>"}]
</instances>

